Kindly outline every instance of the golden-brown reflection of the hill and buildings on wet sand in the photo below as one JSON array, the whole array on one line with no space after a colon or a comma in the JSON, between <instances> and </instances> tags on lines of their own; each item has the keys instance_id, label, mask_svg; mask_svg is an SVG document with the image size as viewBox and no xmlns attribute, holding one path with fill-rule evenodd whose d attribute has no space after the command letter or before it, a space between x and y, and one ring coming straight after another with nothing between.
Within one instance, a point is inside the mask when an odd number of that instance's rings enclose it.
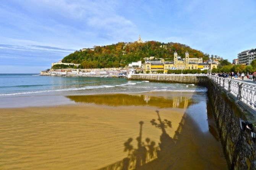
<instances>
[{"instance_id":1,"label":"golden-brown reflection of the hill and buildings on wet sand","mask_svg":"<svg viewBox=\"0 0 256 170\"><path fill-rule=\"evenodd\" d=\"M108 106L156 106L158 108L188 108L195 103L190 97L156 97L151 95L77 95L66 96L75 102L104 104Z\"/></svg>"}]
</instances>

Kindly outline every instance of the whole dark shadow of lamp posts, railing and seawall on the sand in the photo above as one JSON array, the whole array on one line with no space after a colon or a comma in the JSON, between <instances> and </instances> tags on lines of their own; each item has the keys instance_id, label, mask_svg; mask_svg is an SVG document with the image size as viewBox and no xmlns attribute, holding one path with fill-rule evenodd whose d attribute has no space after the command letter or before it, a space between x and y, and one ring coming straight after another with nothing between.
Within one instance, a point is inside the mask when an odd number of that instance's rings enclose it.
<instances>
[{"instance_id":1,"label":"whole dark shadow of lamp posts, railing and seawall on the sand","mask_svg":"<svg viewBox=\"0 0 256 170\"><path fill-rule=\"evenodd\" d=\"M196 97L196 94L194 95ZM205 132L199 130L200 122L196 122L189 111L184 112L181 119L179 119L180 121L178 124L172 124L170 120L162 119L160 112L157 110L156 114L156 119L152 119L149 122L152 126L161 131L159 143L155 143L149 138L142 140L144 122L141 121L139 122L139 136L136 138L136 141L138 142L137 145L134 147L133 138L128 138L124 143L124 152L127 153L127 156L123 160L100 168L100 170L164 170L172 168L206 169L209 165L212 165L216 169L227 168L225 167L226 164L223 160L217 160L219 159L218 156L215 155L214 157L205 152L203 148L200 148L203 146L202 140L205 139ZM163 118L165 117L164 115L162 116ZM207 103L206 121L208 121L208 130L209 133L211 133L206 136L209 137L212 135L215 140L218 141L218 133L215 130L214 117L212 115L211 108L209 107L209 103ZM175 120L173 120L173 122L175 122ZM175 131L167 130L168 128L173 127L175 127ZM169 132L174 132L172 137L168 134ZM201 135L203 135L203 137L200 137ZM191 142L189 140L191 140ZM197 143L197 140L200 142ZM207 141L208 140L206 140L206 142ZM217 148L217 146L212 147ZM191 151L191 153L188 153L188 151Z\"/></svg>"}]
</instances>

